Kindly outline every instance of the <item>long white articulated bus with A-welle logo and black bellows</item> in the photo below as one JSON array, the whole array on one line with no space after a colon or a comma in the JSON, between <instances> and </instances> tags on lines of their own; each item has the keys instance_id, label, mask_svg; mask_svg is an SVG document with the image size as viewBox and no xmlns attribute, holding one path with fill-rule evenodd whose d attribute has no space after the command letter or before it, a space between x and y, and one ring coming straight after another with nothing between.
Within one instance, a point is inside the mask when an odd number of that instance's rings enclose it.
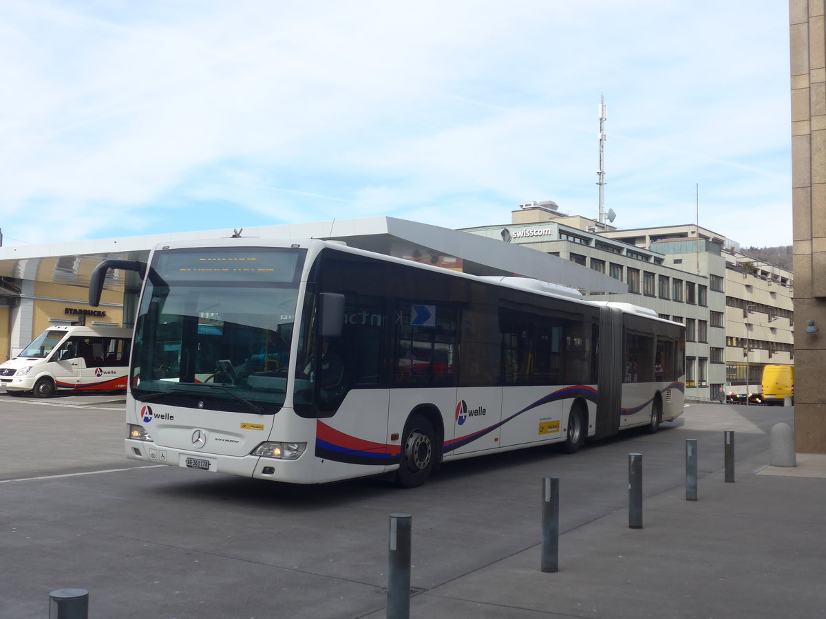
<instances>
[{"instance_id":1,"label":"long white articulated bus with A-welle logo and black bellows","mask_svg":"<svg viewBox=\"0 0 826 619\"><path fill-rule=\"evenodd\" d=\"M317 484L659 423L682 413L683 326L521 278L320 240L155 248L135 322L126 456Z\"/></svg>"}]
</instances>

